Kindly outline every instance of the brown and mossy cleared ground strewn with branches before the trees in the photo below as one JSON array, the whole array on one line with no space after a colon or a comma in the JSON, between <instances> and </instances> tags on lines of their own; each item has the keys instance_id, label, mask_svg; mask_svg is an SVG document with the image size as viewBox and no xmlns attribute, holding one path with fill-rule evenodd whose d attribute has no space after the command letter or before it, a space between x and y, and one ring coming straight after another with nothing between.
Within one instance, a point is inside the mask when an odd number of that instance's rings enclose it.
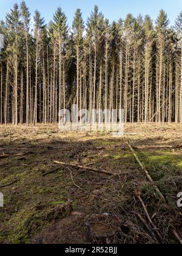
<instances>
[{"instance_id":1,"label":"brown and mossy cleared ground strewn with branches before the trees","mask_svg":"<svg viewBox=\"0 0 182 256\"><path fill-rule=\"evenodd\" d=\"M113 138L104 133L62 133L56 126L0 126L0 243L179 243L182 126L127 124L125 132L136 135ZM153 190L126 140L133 147L173 147L135 149L166 203ZM104 232L101 223L95 230L92 226L92 233L86 227L93 214L102 213L120 222L107 239L93 236Z\"/></svg>"}]
</instances>

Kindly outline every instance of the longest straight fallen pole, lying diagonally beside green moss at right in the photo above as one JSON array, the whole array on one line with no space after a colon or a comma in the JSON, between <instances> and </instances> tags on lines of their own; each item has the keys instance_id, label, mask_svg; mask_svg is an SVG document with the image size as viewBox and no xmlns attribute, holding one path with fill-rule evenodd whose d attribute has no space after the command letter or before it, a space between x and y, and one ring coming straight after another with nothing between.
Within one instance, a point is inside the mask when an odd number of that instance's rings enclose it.
<instances>
[{"instance_id":1,"label":"longest straight fallen pole, lying diagonally beside green moss at right","mask_svg":"<svg viewBox=\"0 0 182 256\"><path fill-rule=\"evenodd\" d=\"M140 165L141 169L143 169L144 173L146 174L147 179L149 179L149 182L153 185L153 188L155 188L155 191L157 191L157 193L160 195L161 201L166 203L166 199L164 198L163 194L161 193L161 191L159 190L157 185L155 185L155 182L153 181L152 177L150 176L149 172L147 171L146 166L144 166L144 164L140 162L140 159L135 154L135 151L133 150L132 146L129 144L128 141L127 141L127 145L129 146L130 151L133 153L133 155L134 155L136 161L138 162L138 164Z\"/></svg>"}]
</instances>

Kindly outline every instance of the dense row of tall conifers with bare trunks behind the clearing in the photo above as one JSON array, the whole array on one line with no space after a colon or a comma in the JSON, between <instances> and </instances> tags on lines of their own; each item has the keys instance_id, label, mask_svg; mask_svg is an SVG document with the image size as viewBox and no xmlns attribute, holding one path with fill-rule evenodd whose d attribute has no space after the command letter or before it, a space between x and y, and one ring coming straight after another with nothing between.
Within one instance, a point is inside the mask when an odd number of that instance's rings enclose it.
<instances>
[{"instance_id":1,"label":"dense row of tall conifers with bare trunks behind the clearing","mask_svg":"<svg viewBox=\"0 0 182 256\"><path fill-rule=\"evenodd\" d=\"M32 33L29 8L15 4L0 23L0 123L56 123L76 103L123 108L126 122L182 123L181 17L174 29L164 10L155 24L130 13L110 24L95 6L86 30L78 9L69 32L58 7L49 26L36 11Z\"/></svg>"}]
</instances>

